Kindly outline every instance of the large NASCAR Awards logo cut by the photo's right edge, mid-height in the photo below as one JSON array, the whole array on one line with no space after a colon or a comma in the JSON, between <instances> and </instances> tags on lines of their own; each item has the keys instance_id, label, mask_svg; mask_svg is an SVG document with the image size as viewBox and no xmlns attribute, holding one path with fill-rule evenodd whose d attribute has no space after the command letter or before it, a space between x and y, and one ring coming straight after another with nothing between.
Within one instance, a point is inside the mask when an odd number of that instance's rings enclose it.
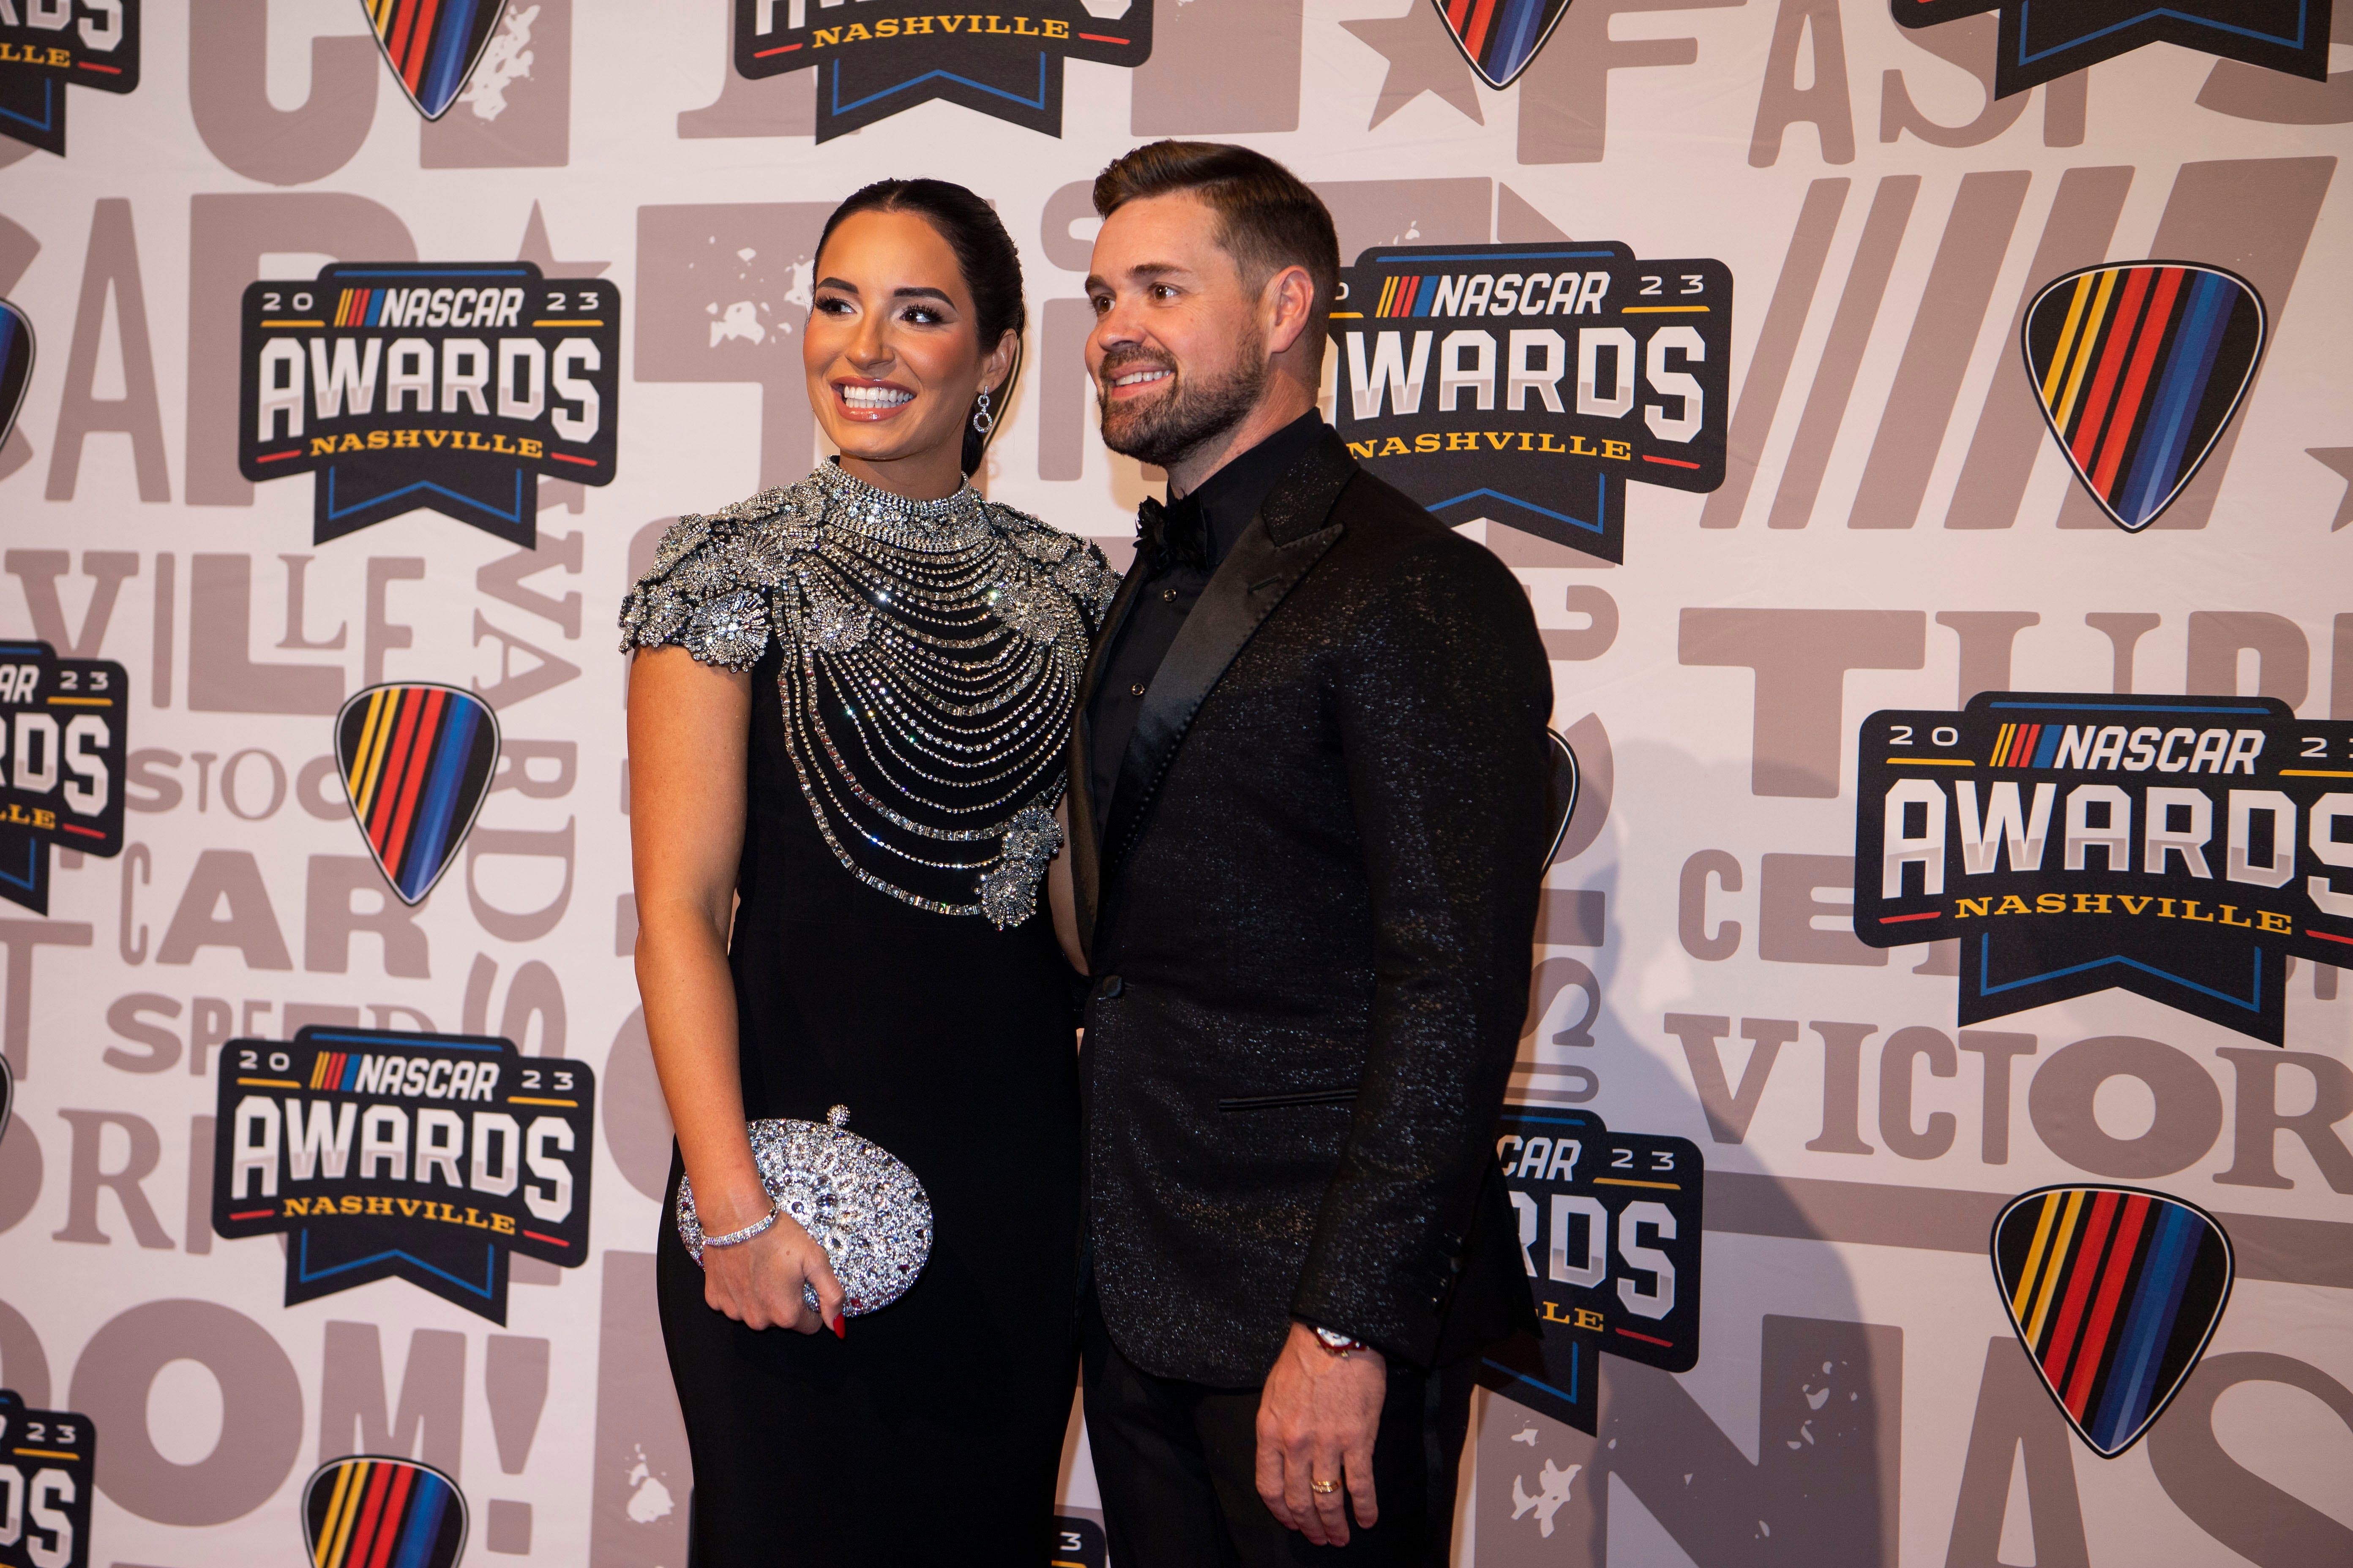
<instances>
[{"instance_id":1,"label":"large NASCAR Awards logo cut by the photo's right edge, mid-height","mask_svg":"<svg viewBox=\"0 0 2353 1568\"><path fill-rule=\"evenodd\" d=\"M2353 959L2353 722L1984 691L1859 757L1854 936L1960 938L1965 1025L2120 985L2275 1046L2287 959Z\"/></svg>"}]
</instances>

